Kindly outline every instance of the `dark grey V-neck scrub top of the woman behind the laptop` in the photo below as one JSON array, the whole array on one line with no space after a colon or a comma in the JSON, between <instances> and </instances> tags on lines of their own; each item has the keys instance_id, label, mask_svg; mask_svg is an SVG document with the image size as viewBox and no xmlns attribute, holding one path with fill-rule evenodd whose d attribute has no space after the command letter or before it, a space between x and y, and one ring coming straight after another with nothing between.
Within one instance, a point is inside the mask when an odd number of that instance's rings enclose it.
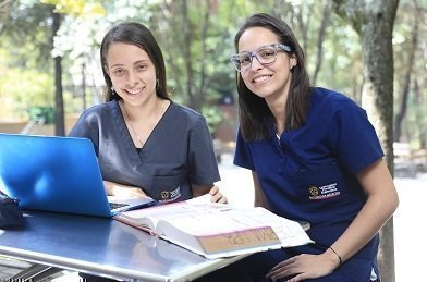
<instances>
[{"instance_id":1,"label":"dark grey V-neck scrub top of the woman behind the laptop","mask_svg":"<svg viewBox=\"0 0 427 282\"><path fill-rule=\"evenodd\" d=\"M103 180L143 187L161 203L192 198L191 184L220 180L206 119L174 102L141 149L115 100L87 109L69 136L93 142Z\"/></svg>"}]
</instances>

